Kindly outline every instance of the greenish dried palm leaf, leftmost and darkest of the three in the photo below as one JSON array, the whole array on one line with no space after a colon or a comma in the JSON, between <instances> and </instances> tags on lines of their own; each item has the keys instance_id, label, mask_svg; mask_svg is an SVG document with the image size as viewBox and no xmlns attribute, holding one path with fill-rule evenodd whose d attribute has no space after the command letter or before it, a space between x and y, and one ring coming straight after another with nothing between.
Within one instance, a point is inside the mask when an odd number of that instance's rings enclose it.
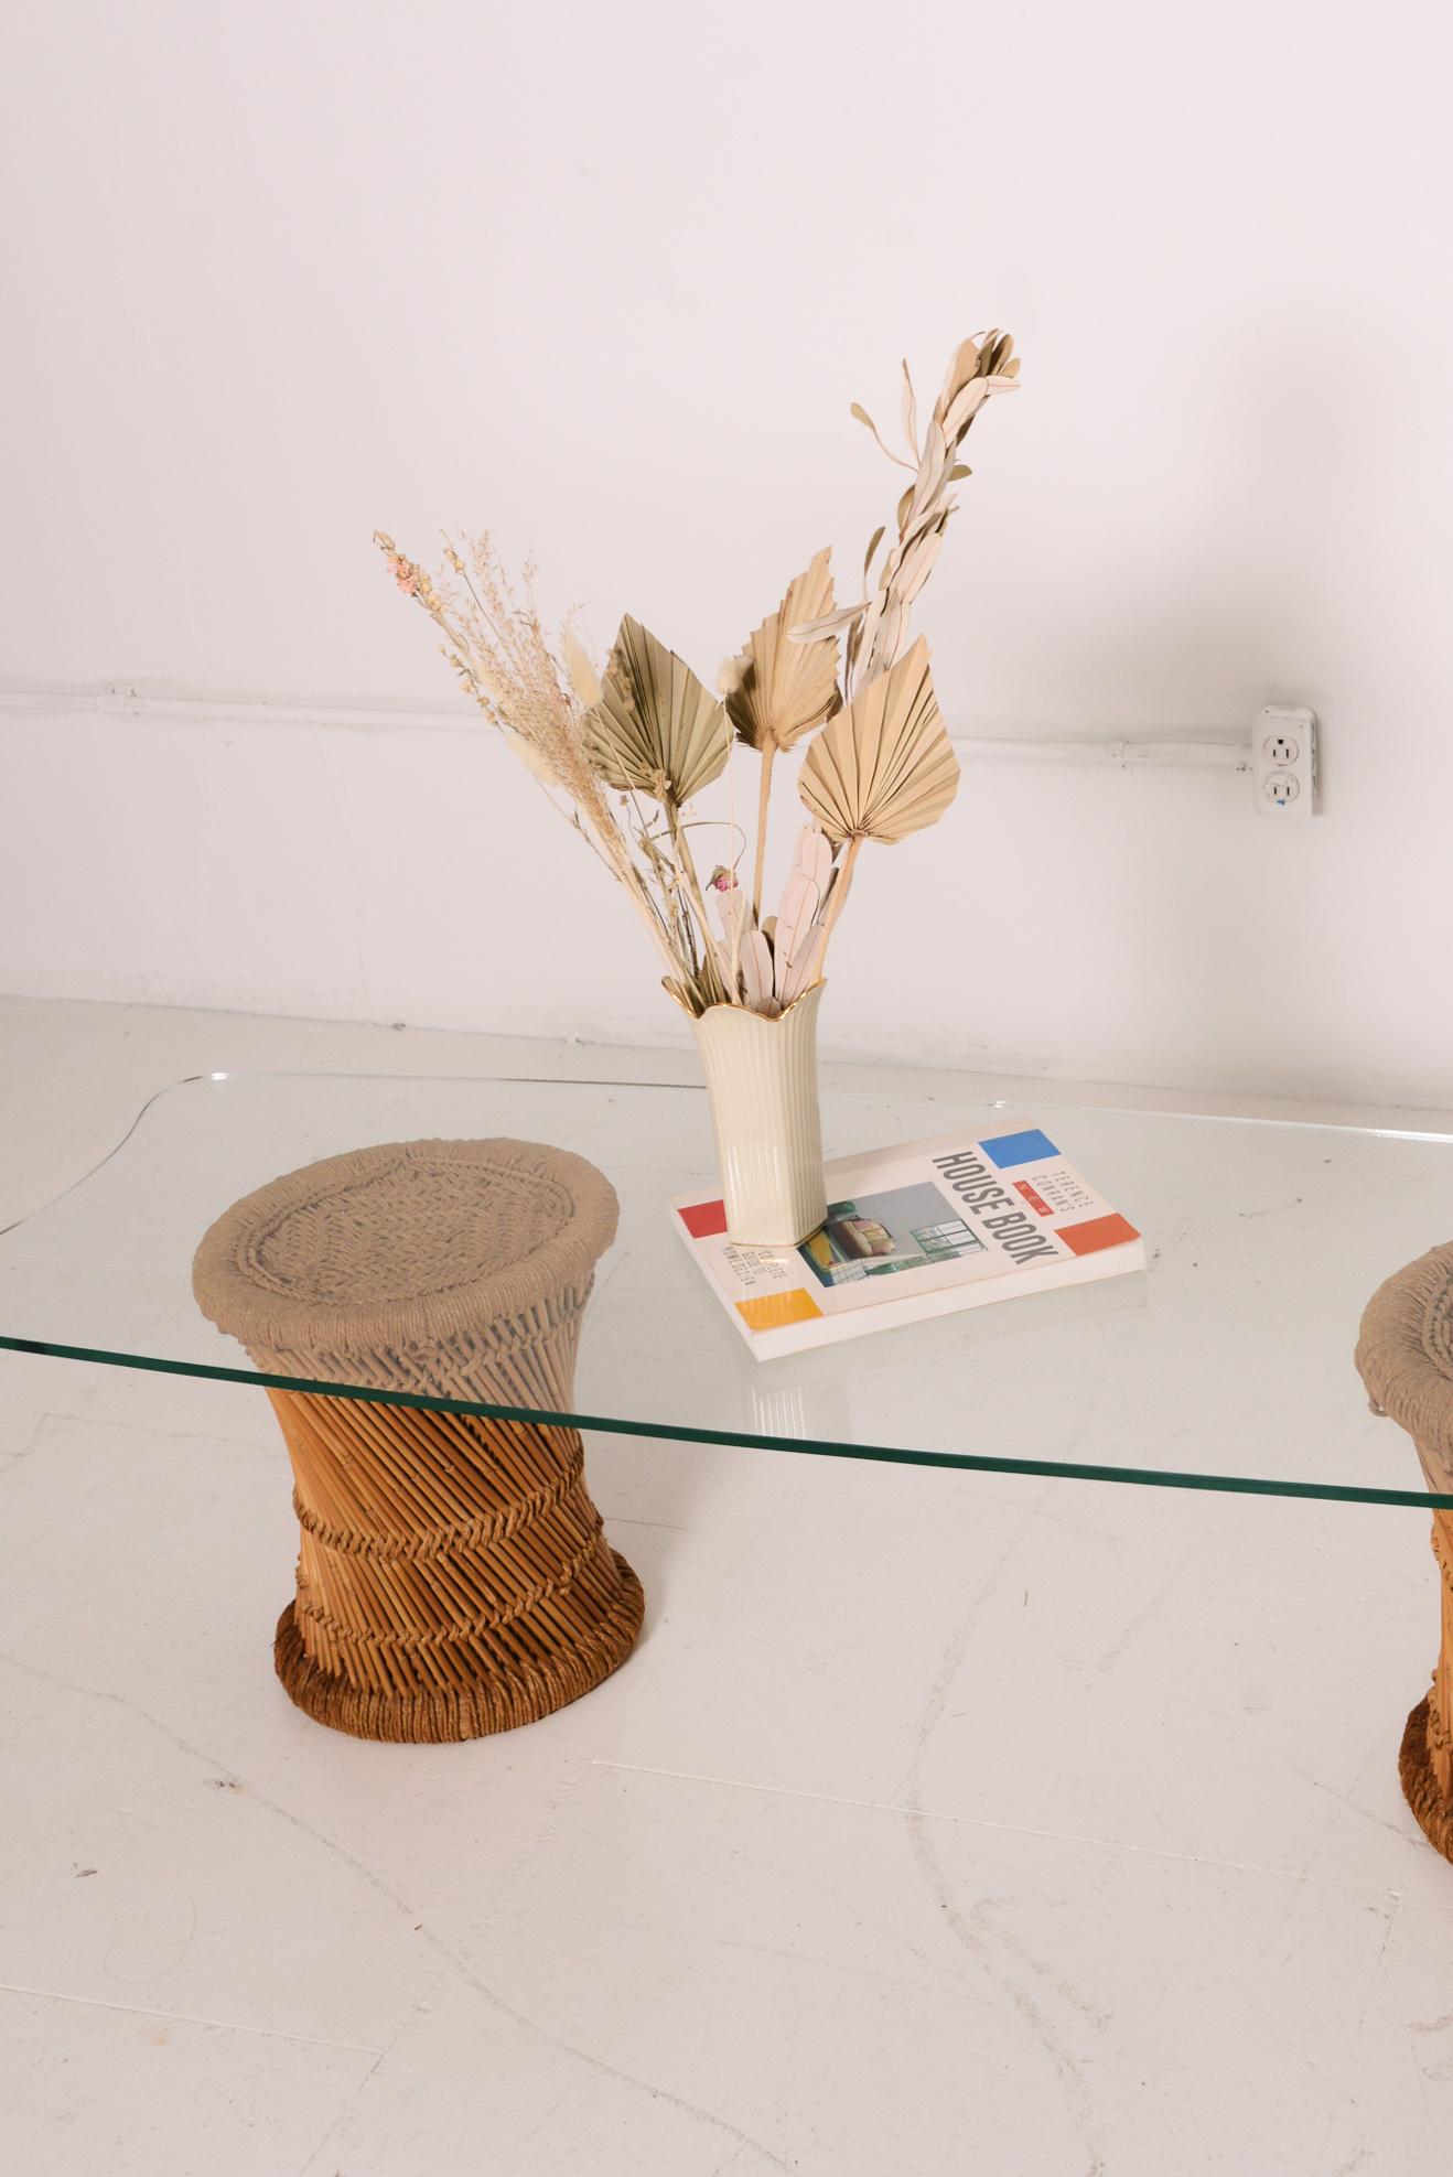
<instances>
[{"instance_id":1,"label":"greenish dried palm leaf, leftmost and darkest of the three","mask_svg":"<svg viewBox=\"0 0 1453 2177\"><path fill-rule=\"evenodd\" d=\"M588 736L608 786L677 808L710 786L732 753L725 705L630 614L610 651Z\"/></svg>"}]
</instances>

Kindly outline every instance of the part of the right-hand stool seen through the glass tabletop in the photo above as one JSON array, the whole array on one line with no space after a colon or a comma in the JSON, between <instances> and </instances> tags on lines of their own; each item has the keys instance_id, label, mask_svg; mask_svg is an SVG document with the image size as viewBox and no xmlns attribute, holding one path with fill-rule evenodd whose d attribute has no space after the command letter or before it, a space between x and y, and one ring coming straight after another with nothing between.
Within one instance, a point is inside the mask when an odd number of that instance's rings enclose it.
<instances>
[{"instance_id":1,"label":"part of the right-hand stool seen through the glass tabletop","mask_svg":"<svg viewBox=\"0 0 1453 2177\"><path fill-rule=\"evenodd\" d=\"M1357 1369L1372 1404L1418 1446L1429 1487L1453 1491L1453 1243L1379 1284L1362 1317Z\"/></svg>"}]
</instances>

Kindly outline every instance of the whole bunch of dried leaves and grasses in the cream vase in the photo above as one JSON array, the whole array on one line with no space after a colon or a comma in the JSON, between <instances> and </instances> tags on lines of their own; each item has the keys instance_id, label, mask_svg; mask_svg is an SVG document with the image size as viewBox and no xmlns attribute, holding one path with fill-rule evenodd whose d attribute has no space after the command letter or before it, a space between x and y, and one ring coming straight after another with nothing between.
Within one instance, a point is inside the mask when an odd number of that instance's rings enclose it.
<instances>
[{"instance_id":1,"label":"whole bunch of dried leaves and grasses in the cream vase","mask_svg":"<svg viewBox=\"0 0 1453 2177\"><path fill-rule=\"evenodd\" d=\"M882 553L887 525L874 531L863 596L841 607L828 551L819 551L721 668L719 694L630 616L603 675L571 627L551 644L534 568L516 588L488 536L464 553L449 544L447 568L431 577L377 533L399 588L442 631L460 684L623 886L667 969L664 988L688 1014L738 1006L780 1017L821 982L863 842L898 845L954 799L959 762L928 644L908 640L908 614L954 514L952 488L969 475L959 459L963 438L985 401L1015 388L1017 370L1009 333L961 342L919 435L904 364L908 455L893 453L852 405L882 453L911 472L895 540ZM762 917L773 766L808 736L797 768L808 823L778 912ZM738 827L708 877L691 840L699 829L691 803L725 773L734 742L760 758L749 886Z\"/></svg>"}]
</instances>

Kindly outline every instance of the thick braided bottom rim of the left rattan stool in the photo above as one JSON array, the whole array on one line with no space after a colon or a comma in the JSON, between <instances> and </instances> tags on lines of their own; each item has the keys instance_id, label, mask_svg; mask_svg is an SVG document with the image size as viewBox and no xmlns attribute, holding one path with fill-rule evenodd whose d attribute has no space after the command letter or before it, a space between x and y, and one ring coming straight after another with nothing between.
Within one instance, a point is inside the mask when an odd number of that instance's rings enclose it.
<instances>
[{"instance_id":1,"label":"thick braided bottom rim of the left rattan stool","mask_svg":"<svg viewBox=\"0 0 1453 2177\"><path fill-rule=\"evenodd\" d=\"M579 1700L625 1661L640 1631L645 1596L640 1581L612 1550L621 1574L621 1596L579 1646L566 1648L532 1670L505 1676L475 1678L460 1687L416 1694L383 1694L349 1685L322 1670L303 1648L303 1635L290 1602L277 1622L272 1661L288 1689L307 1715L333 1731L351 1731L357 1739L390 1739L394 1744L442 1746L453 1739L479 1739L490 1731L514 1731L534 1724L553 1709Z\"/></svg>"}]
</instances>

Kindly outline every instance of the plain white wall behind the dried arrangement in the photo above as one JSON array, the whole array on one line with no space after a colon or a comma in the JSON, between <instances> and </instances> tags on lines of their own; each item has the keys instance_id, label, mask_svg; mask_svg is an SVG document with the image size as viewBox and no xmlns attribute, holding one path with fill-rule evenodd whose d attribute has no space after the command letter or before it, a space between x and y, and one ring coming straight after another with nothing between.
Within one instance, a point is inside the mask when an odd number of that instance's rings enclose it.
<instances>
[{"instance_id":1,"label":"plain white wall behind the dried arrangement","mask_svg":"<svg viewBox=\"0 0 1453 2177\"><path fill-rule=\"evenodd\" d=\"M375 564L534 546L712 673L1009 324L919 625L961 731L1316 705L1324 812L996 764L874 860L826 1041L1453 1097L1436 7L13 11L0 686L449 703ZM0 712L0 988L675 1038L473 734Z\"/></svg>"}]
</instances>

